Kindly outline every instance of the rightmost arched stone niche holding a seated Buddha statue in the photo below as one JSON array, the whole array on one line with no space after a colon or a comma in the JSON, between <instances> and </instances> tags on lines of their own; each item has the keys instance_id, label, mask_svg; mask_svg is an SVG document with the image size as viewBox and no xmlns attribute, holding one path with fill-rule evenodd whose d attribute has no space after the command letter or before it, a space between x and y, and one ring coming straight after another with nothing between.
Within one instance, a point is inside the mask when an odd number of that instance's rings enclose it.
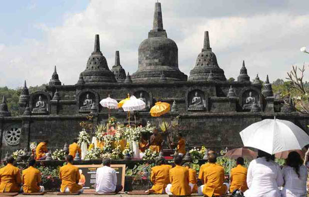
<instances>
[{"instance_id":1,"label":"rightmost arched stone niche holding a seated Buddha statue","mask_svg":"<svg viewBox=\"0 0 309 197\"><path fill-rule=\"evenodd\" d=\"M245 88L240 92L240 106L243 111L250 111L253 104L262 109L262 97L256 88Z\"/></svg>"}]
</instances>

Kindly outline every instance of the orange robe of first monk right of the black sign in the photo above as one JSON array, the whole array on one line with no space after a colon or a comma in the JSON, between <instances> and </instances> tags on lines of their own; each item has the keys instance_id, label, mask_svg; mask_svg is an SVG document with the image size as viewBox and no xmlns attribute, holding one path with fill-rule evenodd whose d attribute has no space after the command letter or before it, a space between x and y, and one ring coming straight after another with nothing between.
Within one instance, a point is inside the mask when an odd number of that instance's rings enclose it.
<instances>
[{"instance_id":1,"label":"orange robe of first monk right of the black sign","mask_svg":"<svg viewBox=\"0 0 309 197\"><path fill-rule=\"evenodd\" d=\"M169 171L171 168L171 165L166 164L151 168L150 180L153 182L153 186L149 189L151 193L165 193L165 187L170 183Z\"/></svg>"}]
</instances>

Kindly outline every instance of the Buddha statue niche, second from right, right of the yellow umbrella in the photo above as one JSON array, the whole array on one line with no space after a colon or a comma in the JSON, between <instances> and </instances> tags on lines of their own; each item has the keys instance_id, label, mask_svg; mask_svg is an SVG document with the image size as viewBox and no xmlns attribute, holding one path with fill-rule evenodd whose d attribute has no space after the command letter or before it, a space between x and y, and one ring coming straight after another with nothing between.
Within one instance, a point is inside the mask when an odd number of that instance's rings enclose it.
<instances>
[{"instance_id":1,"label":"Buddha statue niche, second from right, right of the yellow umbrella","mask_svg":"<svg viewBox=\"0 0 309 197\"><path fill-rule=\"evenodd\" d=\"M204 91L200 89L189 90L186 104L188 111L205 111L208 104Z\"/></svg>"}]
</instances>

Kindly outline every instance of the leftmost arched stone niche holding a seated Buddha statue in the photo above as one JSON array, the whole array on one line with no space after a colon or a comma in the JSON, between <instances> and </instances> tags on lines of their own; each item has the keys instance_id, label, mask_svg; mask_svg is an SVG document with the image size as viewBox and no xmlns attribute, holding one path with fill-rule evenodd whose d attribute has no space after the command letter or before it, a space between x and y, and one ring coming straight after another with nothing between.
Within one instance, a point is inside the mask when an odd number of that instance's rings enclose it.
<instances>
[{"instance_id":1,"label":"leftmost arched stone niche holding a seated Buddha statue","mask_svg":"<svg viewBox=\"0 0 309 197\"><path fill-rule=\"evenodd\" d=\"M50 109L50 95L45 91L36 91L30 95L30 108L32 109L33 115L44 115L48 114Z\"/></svg>"}]
</instances>

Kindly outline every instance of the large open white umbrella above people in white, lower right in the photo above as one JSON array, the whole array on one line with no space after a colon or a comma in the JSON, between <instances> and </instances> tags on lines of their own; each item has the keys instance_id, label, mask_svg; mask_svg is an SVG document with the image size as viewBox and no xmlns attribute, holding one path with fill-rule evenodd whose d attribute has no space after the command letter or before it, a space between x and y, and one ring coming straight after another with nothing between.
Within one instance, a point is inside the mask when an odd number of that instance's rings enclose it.
<instances>
[{"instance_id":1,"label":"large open white umbrella above people in white, lower right","mask_svg":"<svg viewBox=\"0 0 309 197\"><path fill-rule=\"evenodd\" d=\"M270 154L302 149L309 144L309 135L288 120L264 119L240 132L244 146L258 148Z\"/></svg>"}]
</instances>

